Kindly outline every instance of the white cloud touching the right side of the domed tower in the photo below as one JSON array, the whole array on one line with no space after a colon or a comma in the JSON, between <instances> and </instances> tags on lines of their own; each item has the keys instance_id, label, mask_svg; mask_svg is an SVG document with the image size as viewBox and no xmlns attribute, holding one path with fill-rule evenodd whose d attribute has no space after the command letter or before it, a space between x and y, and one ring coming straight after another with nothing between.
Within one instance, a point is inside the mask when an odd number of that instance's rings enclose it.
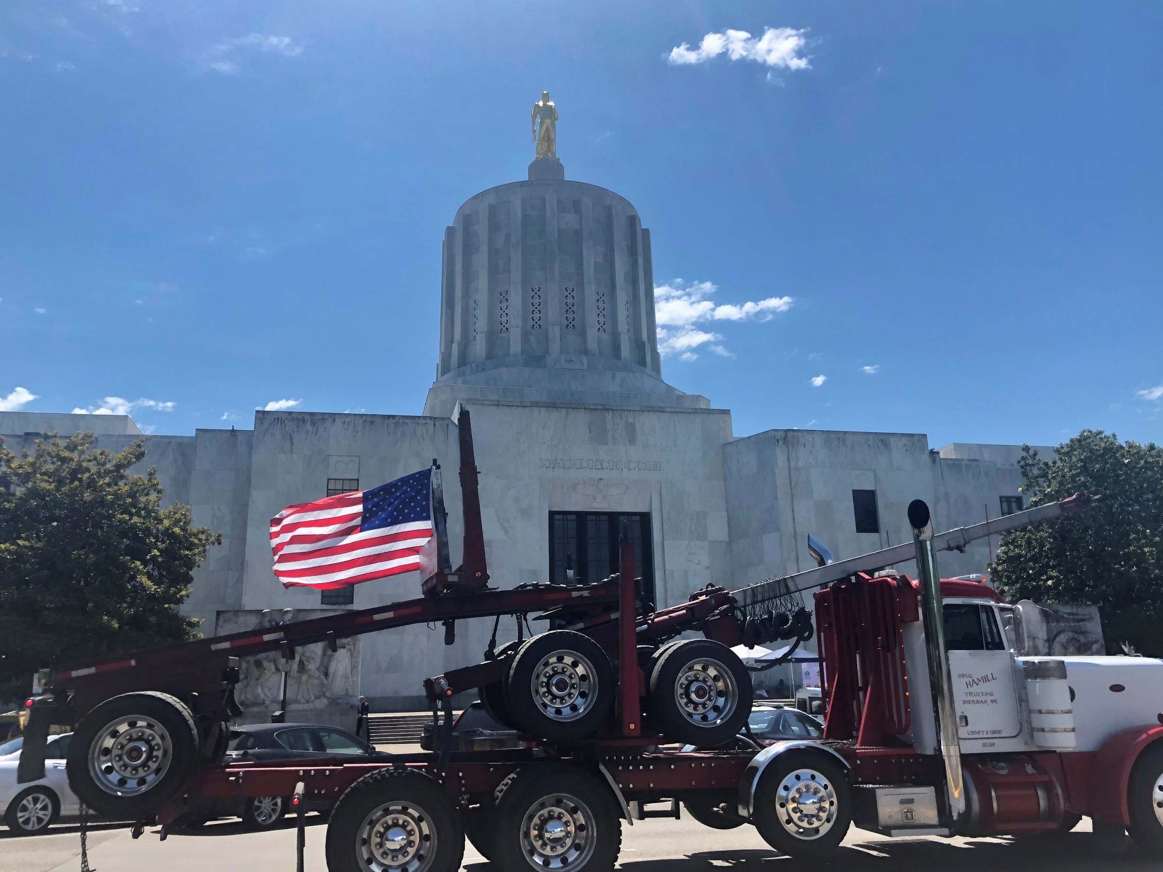
<instances>
[{"instance_id":1,"label":"white cloud touching the right side of the domed tower","mask_svg":"<svg viewBox=\"0 0 1163 872\"><path fill-rule=\"evenodd\" d=\"M695 324L705 321L770 321L776 314L792 307L790 296L769 296L765 300L741 305L721 303L706 298L719 287L713 281L683 281L675 279L655 286L655 323L658 324L658 352L664 357L690 351L722 336L701 330ZM673 329L672 329L673 328ZM722 345L715 351L722 357L734 357ZM682 359L682 358L680 358ZM688 358L690 359L690 358Z\"/></svg>"}]
</instances>

